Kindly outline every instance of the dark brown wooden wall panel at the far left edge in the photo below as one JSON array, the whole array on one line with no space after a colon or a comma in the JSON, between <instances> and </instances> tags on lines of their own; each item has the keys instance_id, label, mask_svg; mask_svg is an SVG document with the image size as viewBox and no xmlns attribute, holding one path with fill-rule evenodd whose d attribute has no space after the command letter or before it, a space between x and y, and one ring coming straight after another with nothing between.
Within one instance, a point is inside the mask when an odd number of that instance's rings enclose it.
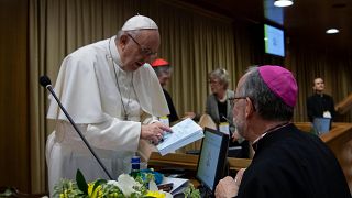
<instances>
[{"instance_id":1,"label":"dark brown wooden wall panel at the far left edge","mask_svg":"<svg viewBox=\"0 0 352 198\"><path fill-rule=\"evenodd\" d=\"M29 191L28 0L1 0L0 25L0 186Z\"/></svg>"}]
</instances>

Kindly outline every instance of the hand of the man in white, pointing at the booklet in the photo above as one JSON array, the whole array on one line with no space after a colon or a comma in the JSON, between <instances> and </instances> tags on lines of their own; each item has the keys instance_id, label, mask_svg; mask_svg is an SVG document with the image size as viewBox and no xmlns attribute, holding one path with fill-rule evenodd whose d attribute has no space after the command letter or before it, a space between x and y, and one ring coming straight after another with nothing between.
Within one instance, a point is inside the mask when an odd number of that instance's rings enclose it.
<instances>
[{"instance_id":1,"label":"hand of the man in white, pointing at the booklet","mask_svg":"<svg viewBox=\"0 0 352 198\"><path fill-rule=\"evenodd\" d=\"M164 131L172 132L172 129L161 122L142 125L141 139L148 140L154 144L157 144L161 140L163 140Z\"/></svg>"}]
</instances>

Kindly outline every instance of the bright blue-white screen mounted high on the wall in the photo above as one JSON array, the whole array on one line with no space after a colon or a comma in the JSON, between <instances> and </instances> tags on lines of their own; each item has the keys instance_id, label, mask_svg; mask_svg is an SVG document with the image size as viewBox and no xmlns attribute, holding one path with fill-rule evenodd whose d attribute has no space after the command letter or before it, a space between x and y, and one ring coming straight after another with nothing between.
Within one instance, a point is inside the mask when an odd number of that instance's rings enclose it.
<instances>
[{"instance_id":1,"label":"bright blue-white screen mounted high on the wall","mask_svg":"<svg viewBox=\"0 0 352 198\"><path fill-rule=\"evenodd\" d=\"M284 30L264 24L265 53L285 56Z\"/></svg>"}]
</instances>

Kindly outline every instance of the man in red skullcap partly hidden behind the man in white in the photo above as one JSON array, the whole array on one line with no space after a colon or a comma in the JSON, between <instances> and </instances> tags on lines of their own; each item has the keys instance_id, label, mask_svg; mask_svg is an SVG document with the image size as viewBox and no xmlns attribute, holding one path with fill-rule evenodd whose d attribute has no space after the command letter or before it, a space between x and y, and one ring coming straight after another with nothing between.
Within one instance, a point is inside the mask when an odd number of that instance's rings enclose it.
<instances>
[{"instance_id":1,"label":"man in red skullcap partly hidden behind the man in white","mask_svg":"<svg viewBox=\"0 0 352 198\"><path fill-rule=\"evenodd\" d=\"M164 88L168 80L172 77L173 68L169 65L169 63L166 59L157 58L152 63L153 69L155 70L155 74L158 78L158 81L161 82L161 86L163 87L163 91L167 101L167 106L169 109L168 121L175 122L178 120L178 116L173 102L172 97L167 92L167 90Z\"/></svg>"}]
</instances>

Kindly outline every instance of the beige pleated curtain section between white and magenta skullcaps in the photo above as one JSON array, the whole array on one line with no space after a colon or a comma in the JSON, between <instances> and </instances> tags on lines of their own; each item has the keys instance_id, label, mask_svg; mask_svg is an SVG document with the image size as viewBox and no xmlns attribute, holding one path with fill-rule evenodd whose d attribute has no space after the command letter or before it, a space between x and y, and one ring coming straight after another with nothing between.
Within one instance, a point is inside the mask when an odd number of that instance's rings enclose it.
<instances>
[{"instance_id":1,"label":"beige pleated curtain section between white and magenta skullcaps","mask_svg":"<svg viewBox=\"0 0 352 198\"><path fill-rule=\"evenodd\" d=\"M210 94L208 73L221 67L231 74L234 67L231 20L170 8L170 4L162 4L161 10L165 12L160 13L163 18L158 22L160 56L168 59L174 70L167 89L179 116L186 111L202 113Z\"/></svg>"}]
</instances>

